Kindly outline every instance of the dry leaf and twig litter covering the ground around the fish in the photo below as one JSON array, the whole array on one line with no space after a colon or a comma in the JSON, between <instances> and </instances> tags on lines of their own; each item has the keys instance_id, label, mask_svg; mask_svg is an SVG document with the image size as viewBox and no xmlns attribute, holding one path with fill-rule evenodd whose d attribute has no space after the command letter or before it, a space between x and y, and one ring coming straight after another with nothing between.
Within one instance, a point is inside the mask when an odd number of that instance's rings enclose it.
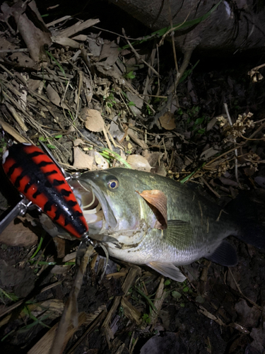
<instances>
[{"instance_id":1,"label":"dry leaf and twig litter covering the ground around the fish","mask_svg":"<svg viewBox=\"0 0 265 354\"><path fill-rule=\"evenodd\" d=\"M256 84L248 69L241 80L218 68L196 73L196 65L181 80L175 69L161 70L155 40L148 50L125 31L106 40L99 19L45 24L32 4L1 6L0 123L12 139L41 140L70 172L132 167L192 181L222 200L264 187L261 66L249 70ZM1 210L7 206L1 198ZM45 235L35 219L20 217L0 235L8 353L60 353L67 343L64 353L264 350L264 253L237 241L235 268L197 262L182 284L112 261L100 282L105 258L91 251L78 311L71 307L56 337L66 299L77 297L76 244Z\"/></svg>"}]
</instances>

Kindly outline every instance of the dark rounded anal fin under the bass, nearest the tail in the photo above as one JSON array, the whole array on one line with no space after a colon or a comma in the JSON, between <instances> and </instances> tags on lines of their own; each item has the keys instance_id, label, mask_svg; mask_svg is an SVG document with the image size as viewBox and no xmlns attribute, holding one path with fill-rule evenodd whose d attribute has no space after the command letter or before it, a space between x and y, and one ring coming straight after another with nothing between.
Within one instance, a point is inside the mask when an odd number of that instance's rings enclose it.
<instances>
[{"instance_id":1,"label":"dark rounded anal fin under the bass, nearest the tail","mask_svg":"<svg viewBox=\"0 0 265 354\"><path fill-rule=\"evenodd\" d=\"M237 264L237 252L228 241L223 241L210 256L204 256L204 258L226 267Z\"/></svg>"}]
</instances>

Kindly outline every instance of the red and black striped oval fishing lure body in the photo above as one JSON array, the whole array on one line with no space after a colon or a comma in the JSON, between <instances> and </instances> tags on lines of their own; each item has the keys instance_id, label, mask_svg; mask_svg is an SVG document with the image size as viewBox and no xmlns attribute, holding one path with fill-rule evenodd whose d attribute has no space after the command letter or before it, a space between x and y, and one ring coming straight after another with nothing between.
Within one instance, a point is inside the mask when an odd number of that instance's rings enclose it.
<instances>
[{"instance_id":1,"label":"red and black striped oval fishing lure body","mask_svg":"<svg viewBox=\"0 0 265 354\"><path fill-rule=\"evenodd\" d=\"M3 168L25 198L78 238L88 224L71 187L54 161L33 144L13 144L3 155Z\"/></svg>"}]
</instances>

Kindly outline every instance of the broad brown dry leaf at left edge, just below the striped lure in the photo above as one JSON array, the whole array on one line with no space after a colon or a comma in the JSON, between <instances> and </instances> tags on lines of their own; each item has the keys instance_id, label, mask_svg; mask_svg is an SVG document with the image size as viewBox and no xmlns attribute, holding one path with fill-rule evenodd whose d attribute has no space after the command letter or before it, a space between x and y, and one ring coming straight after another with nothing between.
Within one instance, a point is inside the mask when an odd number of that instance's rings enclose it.
<instances>
[{"instance_id":1,"label":"broad brown dry leaf at left edge, just below the striped lure","mask_svg":"<svg viewBox=\"0 0 265 354\"><path fill-rule=\"evenodd\" d=\"M16 220L16 222L15 222ZM37 236L18 219L13 220L0 234L0 243L8 246L30 247L37 244Z\"/></svg>"}]
</instances>

